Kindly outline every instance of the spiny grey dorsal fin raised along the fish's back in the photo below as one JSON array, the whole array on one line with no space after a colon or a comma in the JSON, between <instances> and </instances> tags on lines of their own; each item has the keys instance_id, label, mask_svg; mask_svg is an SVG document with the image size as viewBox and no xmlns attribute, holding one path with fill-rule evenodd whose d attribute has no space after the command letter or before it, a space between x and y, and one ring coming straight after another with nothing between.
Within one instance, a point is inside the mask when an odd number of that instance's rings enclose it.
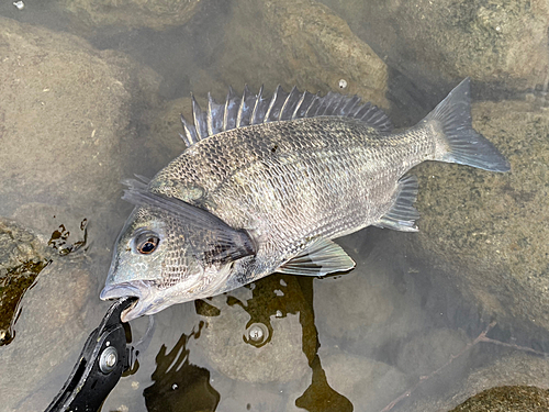
<instances>
[{"instance_id":1,"label":"spiny grey dorsal fin raised along the fish's back","mask_svg":"<svg viewBox=\"0 0 549 412\"><path fill-rule=\"evenodd\" d=\"M329 91L326 96L301 92L293 88L287 93L279 85L272 98L262 97L264 87L257 96L251 93L248 86L244 92L235 93L228 88L225 102L216 103L208 94L208 110L202 111L192 97L192 118L194 124L181 116L183 132L181 138L188 147L214 134L251 124L288 121L315 116L344 116L360 120L380 132L392 130L386 114L371 103L361 103L358 96L343 96Z\"/></svg>"}]
</instances>

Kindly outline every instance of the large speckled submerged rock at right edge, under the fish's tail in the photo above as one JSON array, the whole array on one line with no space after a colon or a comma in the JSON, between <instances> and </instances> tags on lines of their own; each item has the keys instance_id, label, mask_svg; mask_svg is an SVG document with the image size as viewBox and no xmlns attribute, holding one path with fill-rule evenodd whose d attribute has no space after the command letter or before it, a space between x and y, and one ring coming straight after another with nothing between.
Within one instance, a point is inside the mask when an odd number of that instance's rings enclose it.
<instances>
[{"instance_id":1,"label":"large speckled submerged rock at right edge, under the fish's tail","mask_svg":"<svg viewBox=\"0 0 549 412\"><path fill-rule=\"evenodd\" d=\"M526 101L483 102L473 104L473 125L512 170L415 168L422 218L412 254L427 253L486 316L534 338L535 331L549 331L549 113Z\"/></svg>"}]
</instances>

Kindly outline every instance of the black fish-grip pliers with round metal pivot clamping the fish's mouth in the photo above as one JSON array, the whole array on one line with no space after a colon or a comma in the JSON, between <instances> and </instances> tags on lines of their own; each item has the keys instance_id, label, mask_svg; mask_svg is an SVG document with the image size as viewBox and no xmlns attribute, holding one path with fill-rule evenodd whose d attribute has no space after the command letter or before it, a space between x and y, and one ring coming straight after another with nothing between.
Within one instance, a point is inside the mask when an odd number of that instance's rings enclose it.
<instances>
[{"instance_id":1,"label":"black fish-grip pliers with round metal pivot clamping the fish's mouth","mask_svg":"<svg viewBox=\"0 0 549 412\"><path fill-rule=\"evenodd\" d=\"M109 308L99 327L86 341L65 386L45 412L99 410L135 357L133 346L126 343L120 315L136 299L121 298Z\"/></svg>"}]
</instances>

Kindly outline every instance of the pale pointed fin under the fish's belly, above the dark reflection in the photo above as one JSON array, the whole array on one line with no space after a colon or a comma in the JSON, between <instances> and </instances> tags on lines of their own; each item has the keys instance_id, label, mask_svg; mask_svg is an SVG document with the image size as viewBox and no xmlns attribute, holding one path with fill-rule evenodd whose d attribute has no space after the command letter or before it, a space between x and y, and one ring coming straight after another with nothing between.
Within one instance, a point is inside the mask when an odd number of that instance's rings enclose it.
<instances>
[{"instance_id":1,"label":"pale pointed fin under the fish's belly, above the dark reflection","mask_svg":"<svg viewBox=\"0 0 549 412\"><path fill-rule=\"evenodd\" d=\"M289 275L324 276L350 270L355 265L341 246L327 238L318 238L276 271Z\"/></svg>"}]
</instances>

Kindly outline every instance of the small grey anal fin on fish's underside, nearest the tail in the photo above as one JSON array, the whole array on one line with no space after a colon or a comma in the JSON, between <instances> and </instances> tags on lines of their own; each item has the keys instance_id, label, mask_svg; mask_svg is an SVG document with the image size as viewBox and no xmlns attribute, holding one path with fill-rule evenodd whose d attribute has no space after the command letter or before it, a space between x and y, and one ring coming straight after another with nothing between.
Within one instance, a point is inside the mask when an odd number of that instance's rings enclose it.
<instances>
[{"instance_id":1,"label":"small grey anal fin on fish's underside, nearest the tail","mask_svg":"<svg viewBox=\"0 0 549 412\"><path fill-rule=\"evenodd\" d=\"M399 180L395 201L374 226L393 229L401 232L417 232L415 220L419 219L419 212L414 208L417 198L417 178L405 176Z\"/></svg>"}]
</instances>

